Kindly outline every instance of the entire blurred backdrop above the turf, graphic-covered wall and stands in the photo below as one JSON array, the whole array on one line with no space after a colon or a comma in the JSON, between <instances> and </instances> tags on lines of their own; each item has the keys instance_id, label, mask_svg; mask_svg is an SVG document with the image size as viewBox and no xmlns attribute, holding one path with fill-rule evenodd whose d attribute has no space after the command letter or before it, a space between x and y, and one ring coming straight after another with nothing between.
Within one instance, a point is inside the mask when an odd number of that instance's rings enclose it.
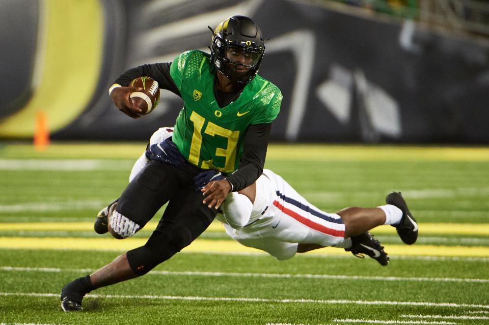
<instances>
[{"instance_id":1,"label":"entire blurred backdrop above the turf, graphic-covered wall and stands","mask_svg":"<svg viewBox=\"0 0 489 325\"><path fill-rule=\"evenodd\" d=\"M41 110L55 140L146 140L180 99L162 92L133 121L107 88L207 50L207 26L236 13L269 38L260 74L285 94L272 140L489 143L489 4L475 0L3 0L0 138L32 137Z\"/></svg>"}]
</instances>

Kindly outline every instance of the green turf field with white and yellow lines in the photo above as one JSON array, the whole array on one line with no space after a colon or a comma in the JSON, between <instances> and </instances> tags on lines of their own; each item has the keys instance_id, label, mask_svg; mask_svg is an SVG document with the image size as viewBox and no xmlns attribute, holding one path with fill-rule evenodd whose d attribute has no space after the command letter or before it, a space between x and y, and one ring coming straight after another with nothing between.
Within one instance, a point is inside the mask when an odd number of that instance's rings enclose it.
<instances>
[{"instance_id":1,"label":"green turf field with white and yellow lines","mask_svg":"<svg viewBox=\"0 0 489 325\"><path fill-rule=\"evenodd\" d=\"M401 191L418 242L403 245L382 226L371 232L387 267L335 248L277 261L214 222L148 275L63 312L66 282L142 245L155 226L124 241L92 231L144 147L0 145L0 324L489 323L487 147L270 145L265 167L324 211L381 205Z\"/></svg>"}]
</instances>

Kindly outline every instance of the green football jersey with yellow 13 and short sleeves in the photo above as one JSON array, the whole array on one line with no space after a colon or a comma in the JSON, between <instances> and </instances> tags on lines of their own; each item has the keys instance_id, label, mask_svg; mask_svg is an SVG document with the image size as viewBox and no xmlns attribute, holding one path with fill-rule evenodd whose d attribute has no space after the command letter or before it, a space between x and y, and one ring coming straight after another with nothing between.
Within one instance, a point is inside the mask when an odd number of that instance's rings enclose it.
<instances>
[{"instance_id":1,"label":"green football jersey with yellow 13 and short sleeves","mask_svg":"<svg viewBox=\"0 0 489 325\"><path fill-rule=\"evenodd\" d=\"M257 75L235 101L221 108L214 97L214 71L210 55L198 50L184 52L173 61L170 74L183 108L172 139L188 162L230 173L238 168L246 129L275 120L282 93Z\"/></svg>"}]
</instances>

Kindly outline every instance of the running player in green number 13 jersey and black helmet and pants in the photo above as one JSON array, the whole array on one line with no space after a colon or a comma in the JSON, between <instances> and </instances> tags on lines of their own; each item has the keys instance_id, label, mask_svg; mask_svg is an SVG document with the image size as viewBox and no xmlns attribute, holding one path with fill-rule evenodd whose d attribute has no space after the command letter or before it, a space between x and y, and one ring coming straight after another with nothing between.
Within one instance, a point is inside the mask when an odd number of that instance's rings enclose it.
<instances>
[{"instance_id":1,"label":"running player in green number 13 jersey and black helmet and pants","mask_svg":"<svg viewBox=\"0 0 489 325\"><path fill-rule=\"evenodd\" d=\"M128 184L107 216L107 230L118 239L131 237L168 206L144 246L63 287L64 311L82 310L91 290L144 275L172 257L207 228L229 192L262 174L271 122L282 101L280 90L257 74L264 52L257 24L233 16L212 31L210 55L192 50L172 63L129 69L110 87L115 106L135 119L142 112L129 101L135 89L127 85L141 76L180 96L183 108L173 139L162 143L170 161L150 161ZM226 178L196 192L194 177L208 169Z\"/></svg>"}]
</instances>

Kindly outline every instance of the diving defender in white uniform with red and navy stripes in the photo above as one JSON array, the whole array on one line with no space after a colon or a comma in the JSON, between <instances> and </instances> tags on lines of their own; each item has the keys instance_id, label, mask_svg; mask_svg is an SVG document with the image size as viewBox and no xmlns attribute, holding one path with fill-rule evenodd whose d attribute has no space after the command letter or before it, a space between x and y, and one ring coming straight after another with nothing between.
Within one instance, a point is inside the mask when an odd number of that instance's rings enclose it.
<instances>
[{"instance_id":1,"label":"diving defender in white uniform with red and navy stripes","mask_svg":"<svg viewBox=\"0 0 489 325\"><path fill-rule=\"evenodd\" d=\"M146 153L132 167L129 182L151 159L169 164L178 159L160 149L172 133L172 128L160 128L151 136ZM209 181L222 178L220 172L208 170L196 176L194 185L199 190ZM377 208L350 207L326 213L298 194L280 175L264 169L254 184L228 194L216 218L232 239L266 251L279 260L289 259L297 252L334 246L351 251L355 256L366 254L381 265L387 265L387 254L368 230L391 224L397 228L402 241L413 244L418 229L400 193L389 194L386 202ZM107 232L107 215L114 206L117 201L100 211L94 225L97 233Z\"/></svg>"}]
</instances>

